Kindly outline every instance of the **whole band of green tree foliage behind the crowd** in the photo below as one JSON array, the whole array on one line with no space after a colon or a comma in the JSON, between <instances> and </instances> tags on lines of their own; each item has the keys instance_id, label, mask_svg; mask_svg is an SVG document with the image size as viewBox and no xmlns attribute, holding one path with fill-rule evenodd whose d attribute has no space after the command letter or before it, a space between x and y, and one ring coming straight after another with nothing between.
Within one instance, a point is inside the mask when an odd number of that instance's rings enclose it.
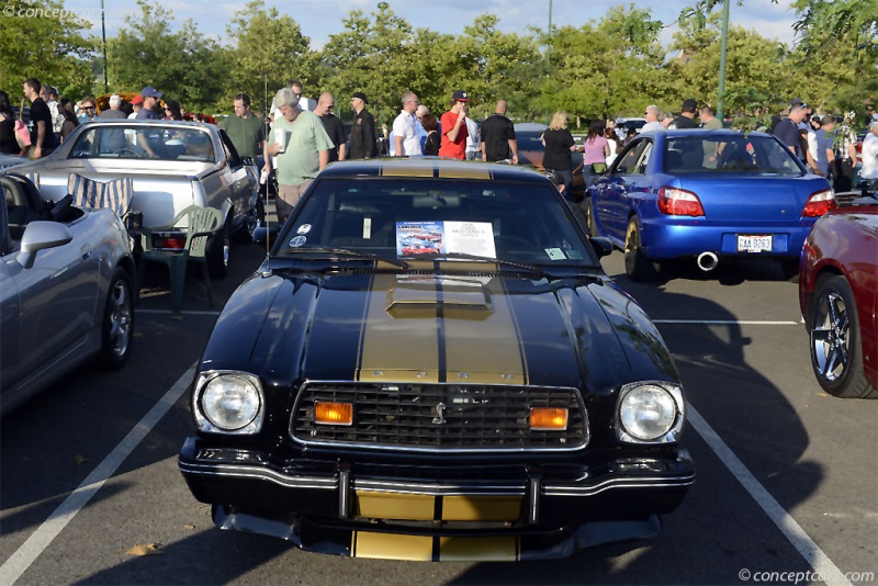
<instances>
[{"instance_id":1,"label":"whole band of green tree foliage behind the crowd","mask_svg":"<svg viewBox=\"0 0 878 586\"><path fill-rule=\"evenodd\" d=\"M116 91L149 84L189 110L229 112L238 92L249 93L261 110L263 97L270 100L288 79L299 78L308 97L334 92L342 117L350 116L350 95L364 92L370 110L385 123L398 113L406 90L440 114L451 92L463 89L476 119L505 99L516 120L545 120L566 110L582 126L595 117L641 115L650 103L669 111L686 98L716 103L722 2L695 0L685 8L669 47L658 41L666 25L634 4L578 27L521 33L504 33L498 16L482 14L461 34L449 35L415 30L380 2L371 13L350 11L340 31L312 49L294 18L264 0L250 0L235 14L222 45L194 22L178 26L169 9L138 0L138 18L127 19L109 40L109 79ZM60 0L9 3L23 14L63 8ZM874 109L878 0L793 0L792 10L798 20L791 47L731 27L727 110L776 113L792 98L821 112ZM0 87L14 99L21 81L33 76L70 98L95 86L102 90L100 45L87 34L89 27L66 13L0 19Z\"/></svg>"}]
</instances>

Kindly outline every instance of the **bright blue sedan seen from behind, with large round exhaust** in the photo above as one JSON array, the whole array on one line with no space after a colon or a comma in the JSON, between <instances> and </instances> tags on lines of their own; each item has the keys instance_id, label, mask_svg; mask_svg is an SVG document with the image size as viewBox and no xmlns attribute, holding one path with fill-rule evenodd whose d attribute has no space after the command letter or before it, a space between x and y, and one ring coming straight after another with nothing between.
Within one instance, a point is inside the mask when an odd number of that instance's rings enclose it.
<instances>
[{"instance_id":1,"label":"bright blue sedan seen from behind, with large round exhaust","mask_svg":"<svg viewBox=\"0 0 878 586\"><path fill-rule=\"evenodd\" d=\"M638 135L584 205L592 234L610 238L628 275L644 281L678 258L705 271L722 258L773 258L796 279L804 237L836 202L772 135L687 129Z\"/></svg>"}]
</instances>

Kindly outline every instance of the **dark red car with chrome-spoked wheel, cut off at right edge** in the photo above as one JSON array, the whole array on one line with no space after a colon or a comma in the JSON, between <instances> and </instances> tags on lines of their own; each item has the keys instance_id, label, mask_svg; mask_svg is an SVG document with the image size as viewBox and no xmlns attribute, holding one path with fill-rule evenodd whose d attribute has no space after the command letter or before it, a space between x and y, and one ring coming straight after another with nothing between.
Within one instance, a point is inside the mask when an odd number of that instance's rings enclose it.
<instances>
[{"instance_id":1,"label":"dark red car with chrome-spoked wheel, cut off at right edge","mask_svg":"<svg viewBox=\"0 0 878 586\"><path fill-rule=\"evenodd\" d=\"M802 246L799 305L820 386L878 398L878 199L828 213Z\"/></svg>"}]
</instances>

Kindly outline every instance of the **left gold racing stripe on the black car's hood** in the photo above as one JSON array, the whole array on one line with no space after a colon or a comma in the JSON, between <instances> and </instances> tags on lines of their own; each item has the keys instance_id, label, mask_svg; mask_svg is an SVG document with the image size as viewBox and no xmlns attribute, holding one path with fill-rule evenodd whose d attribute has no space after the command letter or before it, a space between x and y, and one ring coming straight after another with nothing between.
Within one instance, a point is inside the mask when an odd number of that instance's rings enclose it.
<instances>
[{"instance_id":1,"label":"left gold racing stripe on the black car's hood","mask_svg":"<svg viewBox=\"0 0 878 586\"><path fill-rule=\"evenodd\" d=\"M439 382L437 306L417 309L419 315L395 319L387 312L387 293L396 274L375 274L369 292L360 339L361 382Z\"/></svg>"}]
</instances>

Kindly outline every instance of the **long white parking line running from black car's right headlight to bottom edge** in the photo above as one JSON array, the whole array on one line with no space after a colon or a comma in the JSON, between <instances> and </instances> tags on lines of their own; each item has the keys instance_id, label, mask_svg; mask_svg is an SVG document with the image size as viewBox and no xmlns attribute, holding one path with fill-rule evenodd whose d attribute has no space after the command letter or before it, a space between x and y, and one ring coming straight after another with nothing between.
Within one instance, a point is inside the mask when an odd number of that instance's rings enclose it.
<instances>
[{"instance_id":1,"label":"long white parking line running from black car's right headlight to bottom edge","mask_svg":"<svg viewBox=\"0 0 878 586\"><path fill-rule=\"evenodd\" d=\"M768 518L777 526L781 533L792 543L792 546L811 564L811 567L820 575L828 586L851 586L851 582L845 578L844 573L838 570L832 560L823 553L814 541L808 537L804 529L796 522L796 519L788 514L780 504L775 500L768 491L759 484L743 462L734 454L731 448L720 439L713 428L701 417L701 414L687 404L687 418L693 428L707 442L711 450L725 464L729 472L738 478L738 482L750 493L753 500L768 515Z\"/></svg>"}]
</instances>

